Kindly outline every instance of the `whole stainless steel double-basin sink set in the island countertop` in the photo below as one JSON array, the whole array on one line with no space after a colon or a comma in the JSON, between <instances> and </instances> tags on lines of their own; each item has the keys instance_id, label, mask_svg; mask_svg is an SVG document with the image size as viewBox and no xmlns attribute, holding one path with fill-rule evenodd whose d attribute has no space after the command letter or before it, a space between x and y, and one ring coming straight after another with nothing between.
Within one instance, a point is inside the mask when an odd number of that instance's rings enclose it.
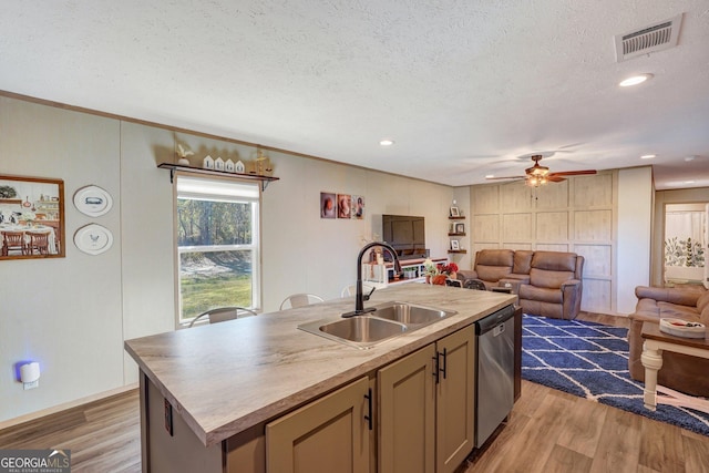
<instances>
[{"instance_id":1,"label":"whole stainless steel double-basin sink set in the island countertop","mask_svg":"<svg viewBox=\"0 0 709 473\"><path fill-rule=\"evenodd\" d=\"M387 302L366 315L319 320L298 326L300 330L360 349L420 329L458 313L408 302Z\"/></svg>"}]
</instances>

